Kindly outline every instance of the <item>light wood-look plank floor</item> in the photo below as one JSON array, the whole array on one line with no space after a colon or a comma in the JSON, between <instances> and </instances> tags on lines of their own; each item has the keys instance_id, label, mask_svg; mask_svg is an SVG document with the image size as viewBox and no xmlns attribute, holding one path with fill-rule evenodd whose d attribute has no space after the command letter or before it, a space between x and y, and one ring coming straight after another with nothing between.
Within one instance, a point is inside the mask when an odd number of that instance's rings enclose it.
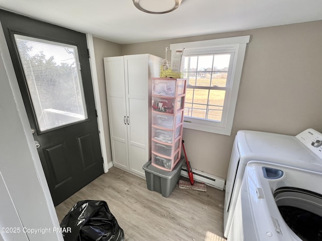
<instances>
[{"instance_id":1,"label":"light wood-look plank floor","mask_svg":"<svg viewBox=\"0 0 322 241\"><path fill-rule=\"evenodd\" d=\"M150 191L146 181L118 168L56 206L59 222L79 200L105 200L126 241L223 241L224 191L175 187L170 197Z\"/></svg>"}]
</instances>

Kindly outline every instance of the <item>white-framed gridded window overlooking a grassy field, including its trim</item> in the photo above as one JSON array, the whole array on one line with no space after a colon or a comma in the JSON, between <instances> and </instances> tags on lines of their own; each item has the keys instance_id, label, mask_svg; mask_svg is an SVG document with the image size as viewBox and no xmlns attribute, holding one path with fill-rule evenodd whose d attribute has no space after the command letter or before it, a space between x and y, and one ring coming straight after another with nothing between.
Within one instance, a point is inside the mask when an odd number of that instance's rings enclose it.
<instances>
[{"instance_id":1,"label":"white-framed gridded window overlooking a grassy field, including its trim","mask_svg":"<svg viewBox=\"0 0 322 241\"><path fill-rule=\"evenodd\" d=\"M230 135L250 36L170 45L183 51L184 128Z\"/></svg>"}]
</instances>

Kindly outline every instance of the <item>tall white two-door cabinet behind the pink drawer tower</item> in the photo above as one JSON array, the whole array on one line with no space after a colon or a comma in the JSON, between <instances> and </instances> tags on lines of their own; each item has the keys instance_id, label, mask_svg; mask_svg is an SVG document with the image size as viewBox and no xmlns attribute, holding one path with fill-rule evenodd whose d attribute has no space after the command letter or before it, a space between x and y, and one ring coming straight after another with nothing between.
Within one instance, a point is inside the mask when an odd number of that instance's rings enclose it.
<instances>
[{"instance_id":1,"label":"tall white two-door cabinet behind the pink drawer tower","mask_svg":"<svg viewBox=\"0 0 322 241\"><path fill-rule=\"evenodd\" d=\"M151 79L162 58L126 55L104 58L113 164L145 177L151 158Z\"/></svg>"}]
</instances>

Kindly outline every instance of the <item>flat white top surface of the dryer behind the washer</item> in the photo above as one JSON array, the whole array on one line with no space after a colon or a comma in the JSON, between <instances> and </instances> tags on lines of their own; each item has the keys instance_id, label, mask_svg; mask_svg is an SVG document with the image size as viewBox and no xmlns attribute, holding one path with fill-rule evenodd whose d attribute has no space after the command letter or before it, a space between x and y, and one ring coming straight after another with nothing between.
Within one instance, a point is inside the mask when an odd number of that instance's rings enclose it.
<instances>
[{"instance_id":1,"label":"flat white top surface of the dryer behind the washer","mask_svg":"<svg viewBox=\"0 0 322 241\"><path fill-rule=\"evenodd\" d=\"M322 159L294 136L238 131L236 138L241 162L258 160L322 172Z\"/></svg>"}]
</instances>

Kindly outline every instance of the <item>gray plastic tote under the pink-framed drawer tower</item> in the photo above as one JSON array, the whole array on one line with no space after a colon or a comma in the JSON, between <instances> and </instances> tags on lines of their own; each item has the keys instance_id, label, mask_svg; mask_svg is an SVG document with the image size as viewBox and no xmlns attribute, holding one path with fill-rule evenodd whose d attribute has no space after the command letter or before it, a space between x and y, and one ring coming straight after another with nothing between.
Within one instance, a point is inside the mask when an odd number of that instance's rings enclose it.
<instances>
[{"instance_id":1,"label":"gray plastic tote under the pink-framed drawer tower","mask_svg":"<svg viewBox=\"0 0 322 241\"><path fill-rule=\"evenodd\" d=\"M182 157L171 172L152 166L151 161L145 163L143 170L145 171L147 189L161 193L164 197L169 197L179 181L183 161L184 158Z\"/></svg>"}]
</instances>

